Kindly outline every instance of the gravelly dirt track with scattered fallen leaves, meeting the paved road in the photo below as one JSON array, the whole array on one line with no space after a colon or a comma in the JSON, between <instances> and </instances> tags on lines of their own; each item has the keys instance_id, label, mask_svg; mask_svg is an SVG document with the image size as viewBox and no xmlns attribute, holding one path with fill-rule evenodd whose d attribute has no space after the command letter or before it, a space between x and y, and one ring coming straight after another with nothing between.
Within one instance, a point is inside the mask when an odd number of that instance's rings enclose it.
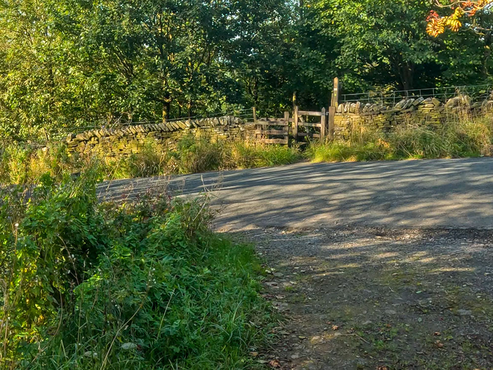
<instances>
[{"instance_id":1,"label":"gravelly dirt track with scattered fallen leaves, meeting the paved road","mask_svg":"<svg viewBox=\"0 0 493 370\"><path fill-rule=\"evenodd\" d=\"M245 231L282 369L493 369L493 231Z\"/></svg>"}]
</instances>

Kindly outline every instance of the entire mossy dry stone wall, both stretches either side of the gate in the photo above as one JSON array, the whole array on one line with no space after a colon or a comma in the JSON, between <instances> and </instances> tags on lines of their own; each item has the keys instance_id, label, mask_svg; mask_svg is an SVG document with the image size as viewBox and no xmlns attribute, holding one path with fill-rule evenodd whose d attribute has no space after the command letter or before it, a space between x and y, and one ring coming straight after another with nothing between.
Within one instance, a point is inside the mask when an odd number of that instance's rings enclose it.
<instances>
[{"instance_id":1,"label":"entire mossy dry stone wall, both stretches either side of the gate","mask_svg":"<svg viewBox=\"0 0 493 370\"><path fill-rule=\"evenodd\" d=\"M457 96L446 103L436 98L403 99L392 106L348 102L337 108L334 139L348 140L353 131L361 128L373 132L389 132L410 124L438 128L459 114L484 113L492 107L491 100L471 103L467 96ZM178 141L189 135L212 143L232 142L254 137L255 125L234 116L203 118L69 134L66 143L71 153L122 156L138 153L147 144L157 150L174 150Z\"/></svg>"}]
</instances>

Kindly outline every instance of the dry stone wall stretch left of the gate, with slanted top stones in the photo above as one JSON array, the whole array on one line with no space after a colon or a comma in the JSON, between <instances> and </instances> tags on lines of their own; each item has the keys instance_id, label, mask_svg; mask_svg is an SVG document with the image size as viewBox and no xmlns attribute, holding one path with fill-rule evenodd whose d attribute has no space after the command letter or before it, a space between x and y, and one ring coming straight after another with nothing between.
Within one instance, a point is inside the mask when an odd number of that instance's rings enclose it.
<instances>
[{"instance_id":1,"label":"dry stone wall stretch left of the gate, with slanted top stones","mask_svg":"<svg viewBox=\"0 0 493 370\"><path fill-rule=\"evenodd\" d=\"M152 144L158 150L174 150L177 142L189 135L209 142L244 140L255 127L233 116L174 121L156 124L102 128L67 136L71 153L124 156L138 153Z\"/></svg>"}]
</instances>

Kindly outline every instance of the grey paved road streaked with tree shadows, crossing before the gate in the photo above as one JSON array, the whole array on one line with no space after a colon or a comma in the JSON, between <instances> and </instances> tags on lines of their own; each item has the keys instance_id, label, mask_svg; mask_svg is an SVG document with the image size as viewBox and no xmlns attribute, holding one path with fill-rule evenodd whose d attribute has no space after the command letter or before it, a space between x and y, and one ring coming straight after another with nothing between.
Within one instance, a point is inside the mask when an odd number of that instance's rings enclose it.
<instances>
[{"instance_id":1,"label":"grey paved road streaked with tree shadows, crossing before the gate","mask_svg":"<svg viewBox=\"0 0 493 370\"><path fill-rule=\"evenodd\" d=\"M203 181L202 181L202 178ZM109 197L166 183L120 180ZM493 158L360 163L297 163L174 177L169 187L215 190L221 229L252 226L493 228Z\"/></svg>"}]
</instances>

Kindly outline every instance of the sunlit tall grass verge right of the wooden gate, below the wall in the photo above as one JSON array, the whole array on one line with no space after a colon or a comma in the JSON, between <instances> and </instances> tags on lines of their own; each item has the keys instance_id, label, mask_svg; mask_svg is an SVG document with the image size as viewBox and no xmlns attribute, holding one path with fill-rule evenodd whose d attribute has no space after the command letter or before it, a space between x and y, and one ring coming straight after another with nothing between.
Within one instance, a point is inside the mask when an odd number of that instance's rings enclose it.
<instances>
[{"instance_id":1,"label":"sunlit tall grass verge right of the wooden gate, below the wall","mask_svg":"<svg viewBox=\"0 0 493 370\"><path fill-rule=\"evenodd\" d=\"M408 125L389 133L359 128L345 142L314 143L306 151L314 162L460 158L493 154L493 117L463 119L440 128Z\"/></svg>"}]
</instances>

